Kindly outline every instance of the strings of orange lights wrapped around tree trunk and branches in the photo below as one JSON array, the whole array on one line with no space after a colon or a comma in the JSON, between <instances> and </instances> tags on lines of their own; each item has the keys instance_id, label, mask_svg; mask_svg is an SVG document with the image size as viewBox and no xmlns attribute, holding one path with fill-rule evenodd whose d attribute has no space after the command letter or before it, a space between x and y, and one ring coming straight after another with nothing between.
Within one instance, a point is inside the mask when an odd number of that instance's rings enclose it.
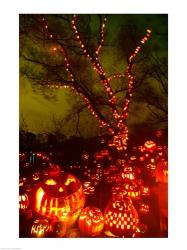
<instances>
[{"instance_id":1,"label":"strings of orange lights wrapped around tree trunk and branches","mask_svg":"<svg viewBox=\"0 0 187 250\"><path fill-rule=\"evenodd\" d=\"M50 88L69 88L73 92L75 92L77 95L79 95L86 103L91 114L93 116L95 116L95 118L98 119L100 126L101 127L107 126L108 131L110 133L116 134L114 137L114 144L118 145L119 149L126 148L126 144L127 144L127 140L128 140L128 128L126 126L126 119L128 116L129 104L130 104L130 100L131 100L132 95L133 95L134 85L136 82L135 77L133 76L132 69L133 69L133 66L135 63L135 58L136 58L137 54L141 50L143 44L145 44L145 42L148 40L148 38L151 35L151 30L147 29L146 35L141 39L140 44L138 44L138 46L135 48L133 53L128 58L127 73L123 73L123 74L116 73L116 74L112 74L112 75L107 77L105 74L105 71L103 70L103 67L99 61L99 58L98 58L100 50L104 44L104 31L105 31L105 26L106 26L106 22L107 22L107 16L104 16L103 20L100 19L100 38L98 41L98 46L95 49L93 55L90 54L87 46L85 45L85 42L83 41L83 39L81 37L81 34L80 34L78 27L77 27L78 20L79 20L78 15L73 15L73 18L71 20L71 27L74 31L76 41L79 43L80 49L83 51L84 56L90 60L93 70L96 71L96 73L99 75L99 77L101 79L101 82L104 86L104 90L108 95L109 107L112 109L112 113L113 113L113 117L116 121L116 127L117 127L118 133L117 134L115 133L114 128L110 125L109 122L106 121L106 119L103 119L104 117L102 117L102 119L101 119L101 117L98 114L98 112L96 111L95 107L91 104L89 98L85 95L84 91L77 84L76 79L75 79L75 75L73 73L73 70L71 69L71 63L70 63L70 60L68 57L68 53L61 43L60 43L60 49L55 46L52 48L52 51L54 53L61 52L63 54L65 70L67 73L69 73L69 77L70 77L69 85L64 84L64 83L58 83L58 84L48 85L48 87L50 87ZM54 42L56 42L58 44L58 40L56 39L56 36L49 32L49 26L48 26L47 21L44 17L42 19L42 23L43 23L43 30L45 31L45 33L47 33L47 36L49 37L49 39L52 39ZM124 107L122 109L122 113L119 114L119 111L118 111L117 106L116 106L117 97L114 94L114 91L110 86L110 82L115 78L125 78L125 77L127 77L127 79L128 79L128 89L126 92L125 102L124 102Z\"/></svg>"}]
</instances>

